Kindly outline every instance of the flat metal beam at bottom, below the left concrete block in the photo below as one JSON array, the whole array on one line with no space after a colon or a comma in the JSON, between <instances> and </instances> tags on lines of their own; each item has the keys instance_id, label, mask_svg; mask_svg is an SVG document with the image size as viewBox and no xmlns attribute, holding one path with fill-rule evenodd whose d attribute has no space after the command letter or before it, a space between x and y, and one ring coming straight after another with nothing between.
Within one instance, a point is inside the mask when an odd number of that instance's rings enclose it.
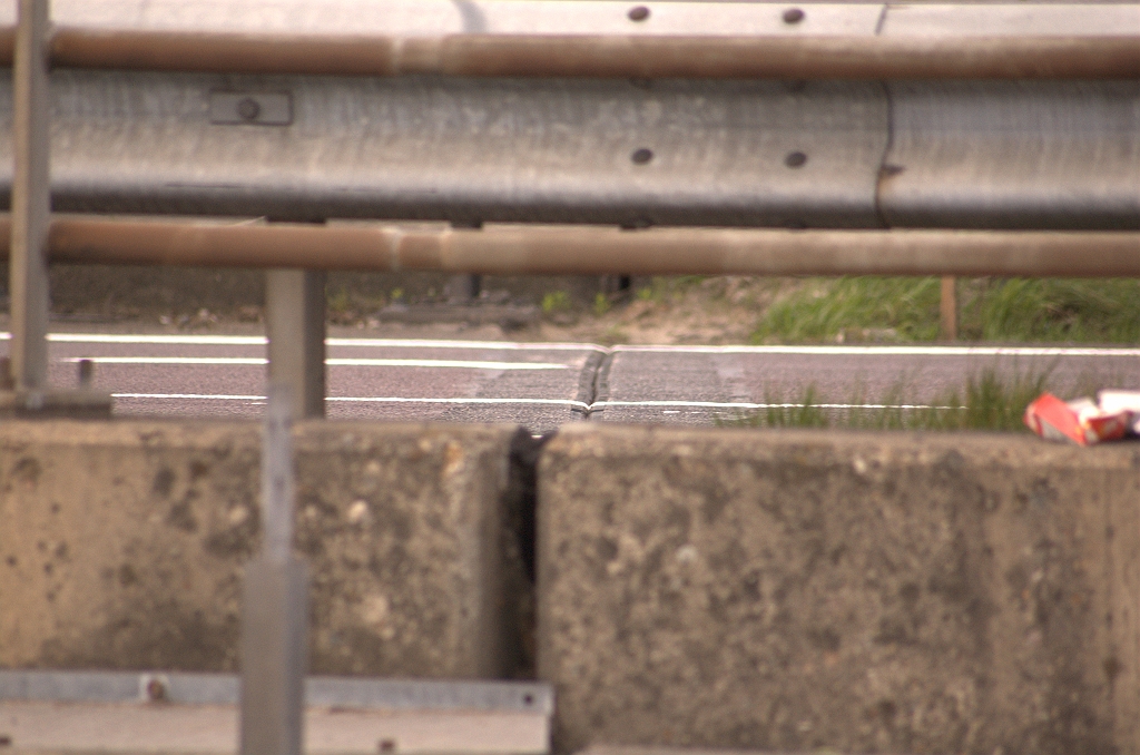
<instances>
[{"instance_id":1,"label":"flat metal beam at bottom, below the left concrete block","mask_svg":"<svg viewBox=\"0 0 1140 755\"><path fill-rule=\"evenodd\" d=\"M233 755L233 674L0 671L13 752ZM553 692L537 682L309 677L307 753L545 753Z\"/></svg>"}]
</instances>

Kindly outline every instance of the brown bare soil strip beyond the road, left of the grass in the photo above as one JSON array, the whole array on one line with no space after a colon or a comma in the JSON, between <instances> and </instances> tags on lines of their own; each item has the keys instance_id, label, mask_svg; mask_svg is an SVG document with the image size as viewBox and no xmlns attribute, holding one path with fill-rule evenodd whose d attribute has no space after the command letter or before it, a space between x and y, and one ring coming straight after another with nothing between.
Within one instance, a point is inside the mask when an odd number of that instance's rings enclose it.
<instances>
[{"instance_id":1,"label":"brown bare soil strip beyond the road, left of the grass","mask_svg":"<svg viewBox=\"0 0 1140 755\"><path fill-rule=\"evenodd\" d=\"M439 277L439 276L437 276ZM445 322L447 279L331 277L329 332L372 338L571 341L602 344L748 343L777 297L798 284L749 277L491 278L470 305L529 310L527 324ZM609 293L605 293L609 291ZM260 333L260 276L252 271L92 269L54 271L55 331ZM441 322L388 322L393 302L439 307ZM451 307L454 309L454 307ZM7 318L0 316L0 325Z\"/></svg>"}]
</instances>

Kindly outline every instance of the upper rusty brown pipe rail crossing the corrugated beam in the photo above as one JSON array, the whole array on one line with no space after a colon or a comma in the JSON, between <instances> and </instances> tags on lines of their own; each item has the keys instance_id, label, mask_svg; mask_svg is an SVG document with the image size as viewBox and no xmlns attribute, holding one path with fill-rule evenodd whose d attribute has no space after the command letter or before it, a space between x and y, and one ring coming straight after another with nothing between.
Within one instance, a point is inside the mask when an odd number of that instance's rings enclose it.
<instances>
[{"instance_id":1,"label":"upper rusty brown pipe rail crossing the corrugated beam","mask_svg":"<svg viewBox=\"0 0 1140 755\"><path fill-rule=\"evenodd\" d=\"M0 29L0 64L14 31ZM708 79L1135 79L1132 36L433 38L238 34L59 26L54 65L76 68L386 76Z\"/></svg>"}]
</instances>

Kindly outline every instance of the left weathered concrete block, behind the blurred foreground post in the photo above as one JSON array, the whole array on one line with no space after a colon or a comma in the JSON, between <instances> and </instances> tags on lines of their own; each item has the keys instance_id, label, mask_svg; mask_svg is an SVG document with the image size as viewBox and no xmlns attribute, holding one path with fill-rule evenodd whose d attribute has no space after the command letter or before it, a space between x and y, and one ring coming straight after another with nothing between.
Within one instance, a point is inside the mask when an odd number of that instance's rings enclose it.
<instances>
[{"instance_id":1,"label":"left weathered concrete block, behind the blurred foreground post","mask_svg":"<svg viewBox=\"0 0 1140 755\"><path fill-rule=\"evenodd\" d=\"M515 669L516 432L298 428L312 673ZM256 423L0 423L0 666L236 669L259 455Z\"/></svg>"}]
</instances>

